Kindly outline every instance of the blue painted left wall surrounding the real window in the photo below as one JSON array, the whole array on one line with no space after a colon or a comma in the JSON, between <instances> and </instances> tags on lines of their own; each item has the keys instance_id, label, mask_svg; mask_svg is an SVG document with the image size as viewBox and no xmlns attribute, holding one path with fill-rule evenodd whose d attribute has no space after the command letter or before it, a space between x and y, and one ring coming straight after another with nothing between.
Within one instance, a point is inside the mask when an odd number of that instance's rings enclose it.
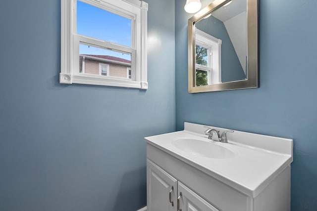
<instances>
[{"instance_id":1,"label":"blue painted left wall surrounding the real window","mask_svg":"<svg viewBox=\"0 0 317 211\"><path fill-rule=\"evenodd\" d=\"M175 130L174 0L147 2L142 91L59 84L60 0L1 1L1 211L146 205L143 137Z\"/></svg>"}]
</instances>

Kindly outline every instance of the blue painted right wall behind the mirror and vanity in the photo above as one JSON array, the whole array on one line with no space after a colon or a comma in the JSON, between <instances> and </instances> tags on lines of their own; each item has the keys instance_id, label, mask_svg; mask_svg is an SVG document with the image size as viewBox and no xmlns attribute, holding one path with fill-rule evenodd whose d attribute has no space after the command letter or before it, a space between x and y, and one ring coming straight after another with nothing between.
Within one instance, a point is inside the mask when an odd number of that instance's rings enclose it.
<instances>
[{"instance_id":1,"label":"blue painted right wall behind the mirror and vanity","mask_svg":"<svg viewBox=\"0 0 317 211\"><path fill-rule=\"evenodd\" d=\"M293 138L292 211L316 211L317 1L260 0L261 87L195 94L183 4L176 0L176 129L192 122Z\"/></svg>"}]
</instances>

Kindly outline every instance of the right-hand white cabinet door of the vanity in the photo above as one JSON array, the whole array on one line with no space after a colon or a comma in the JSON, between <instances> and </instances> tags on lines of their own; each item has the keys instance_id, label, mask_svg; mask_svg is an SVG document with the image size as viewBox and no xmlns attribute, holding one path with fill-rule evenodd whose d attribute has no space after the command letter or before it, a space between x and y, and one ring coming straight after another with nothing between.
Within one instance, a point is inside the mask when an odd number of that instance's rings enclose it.
<instances>
[{"instance_id":1,"label":"right-hand white cabinet door of the vanity","mask_svg":"<svg viewBox=\"0 0 317 211\"><path fill-rule=\"evenodd\" d=\"M177 189L178 204L176 207L179 211L219 211L181 182L178 182Z\"/></svg>"}]
</instances>

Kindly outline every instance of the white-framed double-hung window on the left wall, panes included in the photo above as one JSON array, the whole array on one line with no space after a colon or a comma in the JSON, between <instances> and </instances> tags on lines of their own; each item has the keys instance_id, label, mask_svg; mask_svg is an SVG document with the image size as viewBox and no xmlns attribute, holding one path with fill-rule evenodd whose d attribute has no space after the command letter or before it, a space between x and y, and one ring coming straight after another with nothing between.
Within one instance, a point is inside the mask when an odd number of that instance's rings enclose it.
<instances>
[{"instance_id":1,"label":"white-framed double-hung window on the left wall, panes included","mask_svg":"<svg viewBox=\"0 0 317 211\"><path fill-rule=\"evenodd\" d=\"M147 89L147 10L140 0L61 0L60 83Z\"/></svg>"}]
</instances>

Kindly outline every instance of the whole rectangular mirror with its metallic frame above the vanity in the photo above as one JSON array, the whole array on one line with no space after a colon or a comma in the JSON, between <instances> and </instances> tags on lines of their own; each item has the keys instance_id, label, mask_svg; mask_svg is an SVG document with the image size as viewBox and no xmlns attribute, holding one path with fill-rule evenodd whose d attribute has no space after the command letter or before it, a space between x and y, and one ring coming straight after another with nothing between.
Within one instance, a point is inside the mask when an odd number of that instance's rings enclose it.
<instances>
[{"instance_id":1,"label":"whole rectangular mirror with its metallic frame above the vanity","mask_svg":"<svg viewBox=\"0 0 317 211\"><path fill-rule=\"evenodd\" d=\"M188 20L189 93L259 87L257 0L215 0Z\"/></svg>"}]
</instances>

